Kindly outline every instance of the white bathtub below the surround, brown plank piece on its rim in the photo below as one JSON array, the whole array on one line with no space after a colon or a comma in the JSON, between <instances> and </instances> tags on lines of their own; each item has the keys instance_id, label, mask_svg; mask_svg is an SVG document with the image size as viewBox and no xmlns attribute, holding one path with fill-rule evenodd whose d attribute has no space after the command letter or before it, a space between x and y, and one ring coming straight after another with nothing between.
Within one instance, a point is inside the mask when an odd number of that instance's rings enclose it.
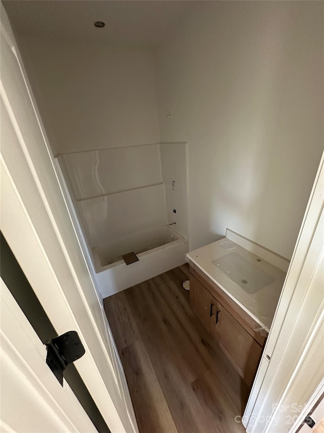
<instances>
[{"instance_id":1,"label":"white bathtub below the surround, brown plank piece on its rim","mask_svg":"<svg viewBox=\"0 0 324 433\"><path fill-rule=\"evenodd\" d=\"M134 251L139 261L127 265L122 255ZM169 225L92 248L96 280L103 297L139 284L185 262L188 241Z\"/></svg>"}]
</instances>

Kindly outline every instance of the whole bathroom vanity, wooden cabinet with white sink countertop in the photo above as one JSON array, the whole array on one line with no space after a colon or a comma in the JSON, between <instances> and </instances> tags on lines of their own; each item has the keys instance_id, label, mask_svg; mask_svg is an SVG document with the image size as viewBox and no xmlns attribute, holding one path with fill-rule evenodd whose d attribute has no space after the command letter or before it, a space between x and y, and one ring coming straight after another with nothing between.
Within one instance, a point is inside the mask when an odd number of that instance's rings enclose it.
<instances>
[{"instance_id":1,"label":"whole bathroom vanity, wooden cabinet with white sink countertop","mask_svg":"<svg viewBox=\"0 0 324 433\"><path fill-rule=\"evenodd\" d=\"M191 308L251 386L289 261L231 230L187 260Z\"/></svg>"}]
</instances>

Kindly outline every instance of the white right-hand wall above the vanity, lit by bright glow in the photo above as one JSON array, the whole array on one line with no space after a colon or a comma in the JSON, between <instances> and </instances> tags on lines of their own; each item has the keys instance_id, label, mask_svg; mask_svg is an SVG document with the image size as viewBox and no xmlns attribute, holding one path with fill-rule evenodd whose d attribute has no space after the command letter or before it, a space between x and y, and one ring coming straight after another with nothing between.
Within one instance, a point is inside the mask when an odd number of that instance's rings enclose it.
<instances>
[{"instance_id":1,"label":"white right-hand wall above the vanity, lit by bright glow","mask_svg":"<svg viewBox=\"0 0 324 433\"><path fill-rule=\"evenodd\" d=\"M229 227L291 258L323 149L323 7L201 2L157 50L161 141L188 142L191 250Z\"/></svg>"}]
</instances>

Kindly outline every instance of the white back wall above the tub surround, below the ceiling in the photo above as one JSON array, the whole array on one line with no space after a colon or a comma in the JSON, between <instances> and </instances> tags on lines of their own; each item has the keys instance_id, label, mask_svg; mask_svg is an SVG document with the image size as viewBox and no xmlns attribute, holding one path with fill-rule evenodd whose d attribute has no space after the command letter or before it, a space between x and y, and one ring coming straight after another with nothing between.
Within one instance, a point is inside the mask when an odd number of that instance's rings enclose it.
<instances>
[{"instance_id":1,"label":"white back wall above the tub surround, below the ceiling","mask_svg":"<svg viewBox=\"0 0 324 433\"><path fill-rule=\"evenodd\" d=\"M57 153L159 142L151 49L20 36Z\"/></svg>"}]
</instances>

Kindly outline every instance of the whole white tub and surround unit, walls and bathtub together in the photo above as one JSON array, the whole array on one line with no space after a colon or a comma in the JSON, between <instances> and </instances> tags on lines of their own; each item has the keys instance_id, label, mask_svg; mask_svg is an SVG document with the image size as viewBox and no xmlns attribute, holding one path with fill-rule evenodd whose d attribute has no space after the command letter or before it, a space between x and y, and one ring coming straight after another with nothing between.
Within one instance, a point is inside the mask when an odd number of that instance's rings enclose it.
<instances>
[{"instance_id":1,"label":"whole white tub and surround unit, walls and bathtub together","mask_svg":"<svg viewBox=\"0 0 324 433\"><path fill-rule=\"evenodd\" d=\"M98 277L103 297L184 263L186 143L72 152L58 161L94 270L104 273ZM124 261L116 264L131 251L139 262L127 270Z\"/></svg>"}]
</instances>

